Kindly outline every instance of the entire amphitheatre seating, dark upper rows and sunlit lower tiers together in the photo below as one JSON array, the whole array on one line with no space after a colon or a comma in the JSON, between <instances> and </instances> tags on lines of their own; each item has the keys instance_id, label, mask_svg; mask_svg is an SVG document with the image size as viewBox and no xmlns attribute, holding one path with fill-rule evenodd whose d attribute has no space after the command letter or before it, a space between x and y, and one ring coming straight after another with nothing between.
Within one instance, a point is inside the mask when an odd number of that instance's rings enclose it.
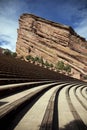
<instances>
[{"instance_id":1,"label":"entire amphitheatre seating, dark upper rows and sunlit lower tiers together","mask_svg":"<svg viewBox=\"0 0 87 130\"><path fill-rule=\"evenodd\" d=\"M0 58L0 130L87 130L87 83Z\"/></svg>"}]
</instances>

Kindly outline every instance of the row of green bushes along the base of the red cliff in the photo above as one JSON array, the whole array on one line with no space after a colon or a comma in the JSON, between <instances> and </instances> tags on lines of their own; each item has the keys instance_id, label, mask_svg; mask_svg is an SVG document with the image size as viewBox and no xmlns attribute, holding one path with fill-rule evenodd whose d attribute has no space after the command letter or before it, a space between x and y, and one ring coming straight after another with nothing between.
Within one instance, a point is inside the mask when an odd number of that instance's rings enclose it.
<instances>
[{"instance_id":1,"label":"row of green bushes along the base of the red cliff","mask_svg":"<svg viewBox=\"0 0 87 130\"><path fill-rule=\"evenodd\" d=\"M3 54L6 56L17 57L17 53L12 52L9 49L4 49ZM25 58L29 62L32 62L34 64L37 63L38 65L41 65L48 69L56 69L58 72L66 72L67 74L71 72L71 66L69 64L64 64L63 61L58 61L54 66L52 63L49 63L47 60L44 60L43 57L33 57L31 55L27 55ZM20 59L24 59L24 57L21 56ZM84 79L87 79L87 76L85 76Z\"/></svg>"}]
</instances>

